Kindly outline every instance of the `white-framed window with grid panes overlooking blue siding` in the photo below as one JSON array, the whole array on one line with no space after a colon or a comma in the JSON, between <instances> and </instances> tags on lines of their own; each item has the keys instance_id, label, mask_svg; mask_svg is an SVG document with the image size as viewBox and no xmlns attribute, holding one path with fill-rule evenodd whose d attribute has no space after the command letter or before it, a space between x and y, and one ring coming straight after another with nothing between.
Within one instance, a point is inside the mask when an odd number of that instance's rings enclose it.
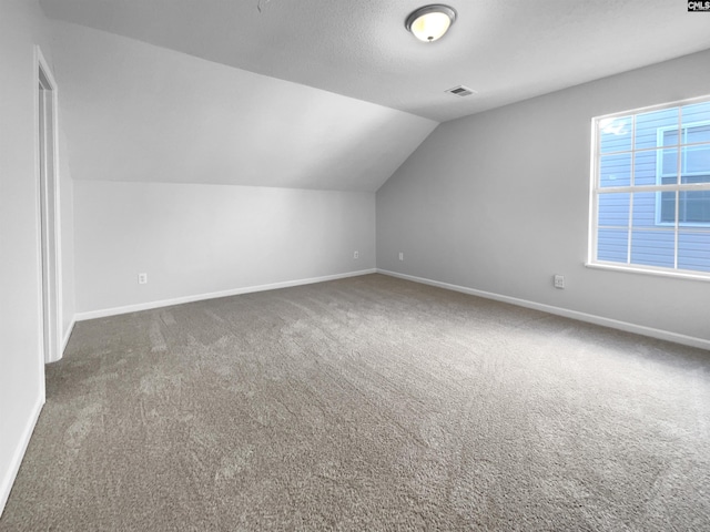
<instances>
[{"instance_id":1,"label":"white-framed window with grid panes overlooking blue siding","mask_svg":"<svg viewBox=\"0 0 710 532\"><path fill-rule=\"evenodd\" d=\"M710 279L710 96L592 125L589 263Z\"/></svg>"}]
</instances>

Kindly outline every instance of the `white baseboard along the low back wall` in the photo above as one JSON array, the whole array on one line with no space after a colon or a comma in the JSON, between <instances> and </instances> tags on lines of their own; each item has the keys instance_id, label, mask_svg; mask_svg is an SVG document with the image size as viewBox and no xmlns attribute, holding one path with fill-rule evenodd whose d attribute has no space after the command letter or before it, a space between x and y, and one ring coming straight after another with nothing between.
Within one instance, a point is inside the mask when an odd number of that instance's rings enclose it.
<instances>
[{"instance_id":1,"label":"white baseboard along the low back wall","mask_svg":"<svg viewBox=\"0 0 710 532\"><path fill-rule=\"evenodd\" d=\"M246 286L243 288L233 288L230 290L212 291L209 294L196 294L193 296L175 297L173 299L163 299L160 301L140 303L136 305L126 305L124 307L104 308L101 310L90 310L88 313L77 313L74 319L83 321L85 319L105 318L108 316L118 316L120 314L138 313L140 310L151 310L153 308L170 307L173 305L182 305L183 303L202 301L205 299L216 299L219 297L239 296L241 294L251 294L254 291L275 290L277 288L290 288L292 286L312 285L314 283L324 283L326 280L344 279L347 277L358 277L361 275L375 274L377 269L361 269L357 272L347 272L344 274L325 275L322 277L310 277L305 279L284 280L281 283L271 283L268 285Z\"/></svg>"}]
</instances>

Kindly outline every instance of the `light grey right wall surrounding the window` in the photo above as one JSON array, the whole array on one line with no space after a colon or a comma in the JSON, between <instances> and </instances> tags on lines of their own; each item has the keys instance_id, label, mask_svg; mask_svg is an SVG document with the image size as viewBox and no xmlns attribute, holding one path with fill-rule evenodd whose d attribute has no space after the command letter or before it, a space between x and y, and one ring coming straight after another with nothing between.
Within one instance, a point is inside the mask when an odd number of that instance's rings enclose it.
<instances>
[{"instance_id":1,"label":"light grey right wall surrounding the window","mask_svg":"<svg viewBox=\"0 0 710 532\"><path fill-rule=\"evenodd\" d=\"M584 266L592 116L708 94L709 64L700 52L439 125L377 192L378 268L710 340L710 283Z\"/></svg>"}]
</instances>

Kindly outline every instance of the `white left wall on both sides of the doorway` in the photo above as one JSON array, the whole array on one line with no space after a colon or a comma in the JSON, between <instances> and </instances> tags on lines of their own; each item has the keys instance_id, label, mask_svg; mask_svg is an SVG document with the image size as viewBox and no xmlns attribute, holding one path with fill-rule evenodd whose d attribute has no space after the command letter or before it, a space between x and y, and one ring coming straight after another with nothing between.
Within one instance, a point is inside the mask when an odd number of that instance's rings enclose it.
<instances>
[{"instance_id":1,"label":"white left wall on both sides of the doorway","mask_svg":"<svg viewBox=\"0 0 710 532\"><path fill-rule=\"evenodd\" d=\"M49 25L34 1L0 3L0 511L44 402L41 345L39 187L34 147L40 44L53 69ZM60 88L61 90L61 88ZM61 98L61 94L60 94ZM60 127L62 116L60 114ZM63 334L73 317L72 191L60 130L64 236Z\"/></svg>"}]
</instances>

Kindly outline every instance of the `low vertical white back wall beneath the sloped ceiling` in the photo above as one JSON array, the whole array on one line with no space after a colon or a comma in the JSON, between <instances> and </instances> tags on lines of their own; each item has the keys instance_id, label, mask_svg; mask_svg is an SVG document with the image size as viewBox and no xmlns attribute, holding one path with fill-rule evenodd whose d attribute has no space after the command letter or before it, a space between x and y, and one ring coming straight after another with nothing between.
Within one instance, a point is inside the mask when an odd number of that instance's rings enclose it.
<instances>
[{"instance_id":1,"label":"low vertical white back wall beneath the sloped ceiling","mask_svg":"<svg viewBox=\"0 0 710 532\"><path fill-rule=\"evenodd\" d=\"M375 267L374 193L77 181L74 208L81 317Z\"/></svg>"}]
</instances>

